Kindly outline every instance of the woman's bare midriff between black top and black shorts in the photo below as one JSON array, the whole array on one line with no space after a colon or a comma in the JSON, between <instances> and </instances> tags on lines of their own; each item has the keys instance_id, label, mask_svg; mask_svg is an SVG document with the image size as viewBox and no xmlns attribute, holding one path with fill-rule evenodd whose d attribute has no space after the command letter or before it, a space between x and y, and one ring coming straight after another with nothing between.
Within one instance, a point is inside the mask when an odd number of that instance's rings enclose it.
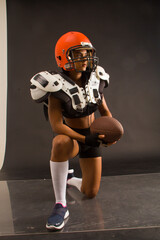
<instances>
[{"instance_id":1,"label":"woman's bare midriff between black top and black shorts","mask_svg":"<svg viewBox=\"0 0 160 240\"><path fill-rule=\"evenodd\" d=\"M78 129L89 128L94 119L95 119L94 113L82 118L66 118L66 117L64 118L66 124L69 127Z\"/></svg>"}]
</instances>

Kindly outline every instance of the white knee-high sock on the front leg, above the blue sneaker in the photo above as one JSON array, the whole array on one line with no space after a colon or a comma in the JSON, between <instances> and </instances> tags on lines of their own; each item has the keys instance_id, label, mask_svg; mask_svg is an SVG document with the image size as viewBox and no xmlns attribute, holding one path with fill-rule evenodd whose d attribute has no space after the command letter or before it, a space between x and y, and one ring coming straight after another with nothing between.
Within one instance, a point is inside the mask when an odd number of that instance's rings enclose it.
<instances>
[{"instance_id":1,"label":"white knee-high sock on the front leg, above the blue sneaker","mask_svg":"<svg viewBox=\"0 0 160 240\"><path fill-rule=\"evenodd\" d=\"M66 183L68 175L68 161L65 162L50 161L50 170L56 203L62 203L63 206L66 206Z\"/></svg>"}]
</instances>

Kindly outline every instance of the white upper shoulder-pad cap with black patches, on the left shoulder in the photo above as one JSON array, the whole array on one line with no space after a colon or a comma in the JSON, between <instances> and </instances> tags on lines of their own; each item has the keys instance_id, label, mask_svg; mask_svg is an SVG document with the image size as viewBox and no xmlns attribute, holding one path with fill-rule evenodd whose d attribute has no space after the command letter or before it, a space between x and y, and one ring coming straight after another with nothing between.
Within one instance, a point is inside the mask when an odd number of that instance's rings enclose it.
<instances>
[{"instance_id":1,"label":"white upper shoulder-pad cap with black patches, on the left shoulder","mask_svg":"<svg viewBox=\"0 0 160 240\"><path fill-rule=\"evenodd\" d=\"M37 73L31 78L31 83L45 92L57 92L62 89L62 77L57 73L44 71Z\"/></svg>"}]
</instances>

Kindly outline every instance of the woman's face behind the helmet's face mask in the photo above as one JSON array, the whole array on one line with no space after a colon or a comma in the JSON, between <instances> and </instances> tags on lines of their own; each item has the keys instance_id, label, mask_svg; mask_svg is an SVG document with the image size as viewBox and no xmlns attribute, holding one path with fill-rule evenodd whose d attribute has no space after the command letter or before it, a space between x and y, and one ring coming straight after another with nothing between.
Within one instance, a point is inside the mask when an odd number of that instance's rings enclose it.
<instances>
[{"instance_id":1,"label":"woman's face behind the helmet's face mask","mask_svg":"<svg viewBox=\"0 0 160 240\"><path fill-rule=\"evenodd\" d=\"M78 61L75 62L75 69L77 71L86 71L88 60L87 60L87 50L86 49L80 49L80 50L74 50L73 51L73 58ZM83 59L82 59L83 58Z\"/></svg>"}]
</instances>

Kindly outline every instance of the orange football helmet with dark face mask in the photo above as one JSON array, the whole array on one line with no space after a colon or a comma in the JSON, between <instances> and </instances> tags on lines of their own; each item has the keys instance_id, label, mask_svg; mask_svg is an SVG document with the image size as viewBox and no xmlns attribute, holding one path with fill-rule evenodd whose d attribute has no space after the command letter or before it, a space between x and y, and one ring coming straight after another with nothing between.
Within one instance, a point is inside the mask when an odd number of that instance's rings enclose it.
<instances>
[{"instance_id":1,"label":"orange football helmet with dark face mask","mask_svg":"<svg viewBox=\"0 0 160 240\"><path fill-rule=\"evenodd\" d=\"M75 58L74 51L80 49L86 49L87 55ZM58 67L65 71L77 71L75 63L87 60L87 71L91 72L96 69L98 63L95 48L90 40L80 32L68 32L59 38L55 47L55 58Z\"/></svg>"}]
</instances>

